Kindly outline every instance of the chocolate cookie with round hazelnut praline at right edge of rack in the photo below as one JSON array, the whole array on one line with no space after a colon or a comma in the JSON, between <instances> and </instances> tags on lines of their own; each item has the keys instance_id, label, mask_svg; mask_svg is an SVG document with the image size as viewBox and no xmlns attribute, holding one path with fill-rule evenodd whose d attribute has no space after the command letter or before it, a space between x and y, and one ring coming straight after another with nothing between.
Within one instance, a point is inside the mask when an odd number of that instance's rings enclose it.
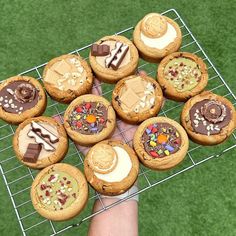
<instances>
[{"instance_id":1,"label":"chocolate cookie with round hazelnut praline at right edge of rack","mask_svg":"<svg viewBox=\"0 0 236 236\"><path fill-rule=\"evenodd\" d=\"M181 122L194 142L215 145L225 141L234 131L236 113L229 100L205 91L185 103Z\"/></svg>"}]
</instances>

